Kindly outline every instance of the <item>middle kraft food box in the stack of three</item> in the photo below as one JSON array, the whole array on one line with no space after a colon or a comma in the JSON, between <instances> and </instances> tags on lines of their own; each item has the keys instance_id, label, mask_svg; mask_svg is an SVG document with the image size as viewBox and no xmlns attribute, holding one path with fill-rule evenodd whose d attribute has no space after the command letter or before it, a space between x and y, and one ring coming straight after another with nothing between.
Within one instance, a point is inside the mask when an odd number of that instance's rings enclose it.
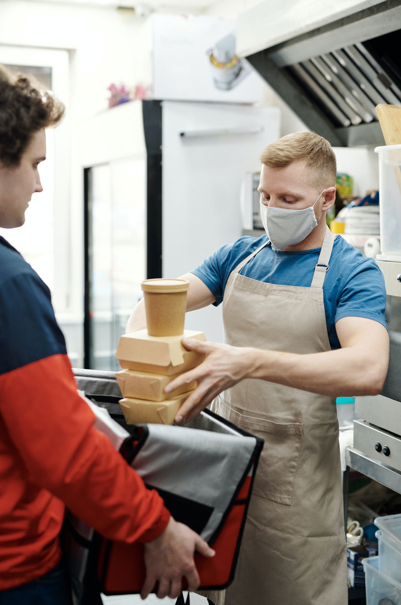
<instances>
[{"instance_id":1,"label":"middle kraft food box in the stack of three","mask_svg":"<svg viewBox=\"0 0 401 605\"><path fill-rule=\"evenodd\" d=\"M117 382L123 397L133 397L134 399L149 399L150 401L163 401L172 399L186 391L192 391L197 386L195 381L175 389L171 393L165 393L165 386L174 380L179 374L165 376L165 374L155 374L150 372L140 372L137 370L121 370L116 372Z\"/></svg>"}]
</instances>

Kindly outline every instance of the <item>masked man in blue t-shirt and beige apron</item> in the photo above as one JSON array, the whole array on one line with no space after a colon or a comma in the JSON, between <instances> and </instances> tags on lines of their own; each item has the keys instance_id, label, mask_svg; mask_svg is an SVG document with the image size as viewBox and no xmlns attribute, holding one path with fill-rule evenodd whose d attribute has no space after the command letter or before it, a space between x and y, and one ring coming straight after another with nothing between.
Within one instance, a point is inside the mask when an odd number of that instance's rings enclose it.
<instances>
[{"instance_id":1,"label":"masked man in blue t-shirt and beige apron","mask_svg":"<svg viewBox=\"0 0 401 605\"><path fill-rule=\"evenodd\" d=\"M336 159L313 132L261 155L268 235L221 247L183 277L187 310L223 301L225 344L184 339L203 364L176 420L206 405L264 439L226 605L345 605L336 396L380 393L388 367L383 277L325 222ZM143 327L143 304L128 331ZM168 388L166 388L166 391Z\"/></svg>"}]
</instances>

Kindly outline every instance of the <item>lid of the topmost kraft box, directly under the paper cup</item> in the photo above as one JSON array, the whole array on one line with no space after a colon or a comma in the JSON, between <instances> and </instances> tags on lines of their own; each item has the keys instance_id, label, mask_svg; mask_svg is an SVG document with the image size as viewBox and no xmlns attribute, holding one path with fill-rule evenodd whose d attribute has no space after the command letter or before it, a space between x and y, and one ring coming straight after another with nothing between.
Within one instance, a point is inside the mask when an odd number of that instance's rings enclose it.
<instances>
[{"instance_id":1,"label":"lid of the topmost kraft box, directly under the paper cup","mask_svg":"<svg viewBox=\"0 0 401 605\"><path fill-rule=\"evenodd\" d=\"M149 336L148 330L137 330L120 336L116 357L142 364L181 365L188 353L181 344L183 336L206 341L204 333L196 330L184 330L179 336Z\"/></svg>"}]
</instances>

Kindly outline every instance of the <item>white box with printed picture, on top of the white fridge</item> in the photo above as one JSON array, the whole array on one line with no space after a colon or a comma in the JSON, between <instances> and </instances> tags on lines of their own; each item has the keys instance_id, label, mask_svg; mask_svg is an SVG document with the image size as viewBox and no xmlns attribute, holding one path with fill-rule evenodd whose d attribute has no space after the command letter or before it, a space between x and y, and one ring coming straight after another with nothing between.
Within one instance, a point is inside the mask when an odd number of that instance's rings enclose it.
<instances>
[{"instance_id":1,"label":"white box with printed picture, on top of the white fridge","mask_svg":"<svg viewBox=\"0 0 401 605\"><path fill-rule=\"evenodd\" d=\"M235 49L234 19L153 15L154 99L253 103L263 80Z\"/></svg>"}]
</instances>

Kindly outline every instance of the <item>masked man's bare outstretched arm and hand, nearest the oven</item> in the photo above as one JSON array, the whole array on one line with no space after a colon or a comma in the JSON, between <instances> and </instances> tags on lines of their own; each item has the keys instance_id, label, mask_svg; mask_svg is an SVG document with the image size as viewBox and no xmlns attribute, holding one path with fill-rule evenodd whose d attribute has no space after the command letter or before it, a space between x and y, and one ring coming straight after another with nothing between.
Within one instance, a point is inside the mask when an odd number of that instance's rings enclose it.
<instances>
[{"instance_id":1,"label":"masked man's bare outstretched arm and hand, nearest the oven","mask_svg":"<svg viewBox=\"0 0 401 605\"><path fill-rule=\"evenodd\" d=\"M336 330L340 349L307 355L183 339L184 347L206 357L165 388L168 393L193 380L198 382L175 420L191 420L218 393L244 378L331 396L379 394L388 369L385 327L373 319L345 317L337 321Z\"/></svg>"}]
</instances>

